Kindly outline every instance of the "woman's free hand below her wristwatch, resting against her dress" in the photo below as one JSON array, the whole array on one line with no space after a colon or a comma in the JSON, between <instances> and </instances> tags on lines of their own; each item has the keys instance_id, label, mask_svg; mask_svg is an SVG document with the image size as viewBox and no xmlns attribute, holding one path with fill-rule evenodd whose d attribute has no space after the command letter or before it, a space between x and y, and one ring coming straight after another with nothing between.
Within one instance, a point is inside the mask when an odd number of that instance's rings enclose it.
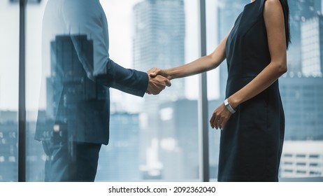
<instances>
[{"instance_id":1,"label":"woman's free hand below her wristwatch, resting against her dress","mask_svg":"<svg viewBox=\"0 0 323 196\"><path fill-rule=\"evenodd\" d=\"M230 111L224 104L221 104L215 111L213 111L210 125L214 129L222 130L231 116Z\"/></svg>"}]
</instances>

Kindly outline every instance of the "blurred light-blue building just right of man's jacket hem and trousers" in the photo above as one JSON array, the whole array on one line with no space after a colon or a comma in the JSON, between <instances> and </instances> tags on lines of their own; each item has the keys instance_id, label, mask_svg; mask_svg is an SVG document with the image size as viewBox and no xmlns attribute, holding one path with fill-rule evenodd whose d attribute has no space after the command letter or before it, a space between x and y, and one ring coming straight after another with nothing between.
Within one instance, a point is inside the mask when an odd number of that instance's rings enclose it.
<instances>
[{"instance_id":1,"label":"blurred light-blue building just right of man's jacket hem and trousers","mask_svg":"<svg viewBox=\"0 0 323 196\"><path fill-rule=\"evenodd\" d=\"M100 151L96 181L140 181L138 113L111 113L108 146Z\"/></svg>"}]
</instances>

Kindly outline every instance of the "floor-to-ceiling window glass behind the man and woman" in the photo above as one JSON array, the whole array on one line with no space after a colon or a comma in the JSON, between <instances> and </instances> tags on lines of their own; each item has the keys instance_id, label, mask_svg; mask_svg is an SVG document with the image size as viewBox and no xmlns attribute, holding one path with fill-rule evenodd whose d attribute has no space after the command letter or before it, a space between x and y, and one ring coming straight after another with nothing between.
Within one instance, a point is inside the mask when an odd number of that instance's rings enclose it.
<instances>
[{"instance_id":1,"label":"floor-to-ceiling window glass behind the man and woman","mask_svg":"<svg viewBox=\"0 0 323 196\"><path fill-rule=\"evenodd\" d=\"M26 180L43 181L47 157L34 139L36 120L48 123L51 100L41 94L42 15L48 0L29 1L26 12ZM109 23L110 58L126 68L148 71L191 62L200 55L199 1L101 1ZM249 0L206 1L207 53L229 32ZM319 1L289 1L292 45L288 73L280 78L285 144L280 177L321 176L322 47ZM122 12L120 12L122 10ZM19 5L0 2L0 181L18 181ZM122 44L120 44L122 43ZM315 50L315 51L313 51ZM50 52L48 52L50 55ZM49 66L47 69L50 75ZM45 78L45 77L44 77ZM224 100L226 62L207 74L208 118ZM200 181L199 76L172 81L158 96L110 92L110 144L101 148L97 181ZM203 94L206 96L206 94ZM38 113L38 109L42 109ZM49 111L51 112L51 111ZM59 127L55 128L56 130ZM217 179L220 132L208 127L209 171ZM300 166L296 170L294 167ZM309 167L305 167L309 166ZM312 169L312 170L310 170ZM316 170L316 169L321 169ZM174 172L175 171L175 172ZM285 175L285 173L287 173ZM288 179L287 179L288 181Z\"/></svg>"}]
</instances>

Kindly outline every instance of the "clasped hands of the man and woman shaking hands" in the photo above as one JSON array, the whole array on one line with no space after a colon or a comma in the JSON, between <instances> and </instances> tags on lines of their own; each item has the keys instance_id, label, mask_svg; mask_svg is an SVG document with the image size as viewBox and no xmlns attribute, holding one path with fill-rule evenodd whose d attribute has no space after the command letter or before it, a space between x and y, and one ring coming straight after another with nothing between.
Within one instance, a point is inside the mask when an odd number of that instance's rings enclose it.
<instances>
[{"instance_id":1,"label":"clasped hands of the man and woman shaking hands","mask_svg":"<svg viewBox=\"0 0 323 196\"><path fill-rule=\"evenodd\" d=\"M168 76L166 70L153 67L147 71L149 76L148 87L146 93L159 94L161 90L164 90L166 86L171 86L171 77Z\"/></svg>"}]
</instances>

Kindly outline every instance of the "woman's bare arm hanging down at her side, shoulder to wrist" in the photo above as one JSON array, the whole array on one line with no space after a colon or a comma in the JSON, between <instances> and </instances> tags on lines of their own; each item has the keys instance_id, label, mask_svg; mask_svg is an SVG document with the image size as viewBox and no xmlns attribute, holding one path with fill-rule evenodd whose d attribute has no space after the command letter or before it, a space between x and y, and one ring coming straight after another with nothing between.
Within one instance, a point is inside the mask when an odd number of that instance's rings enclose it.
<instances>
[{"instance_id":1,"label":"woman's bare arm hanging down at her side, shoulder to wrist","mask_svg":"<svg viewBox=\"0 0 323 196\"><path fill-rule=\"evenodd\" d=\"M229 97L229 103L234 108L266 90L267 87L287 71L284 15L279 0L267 0L265 2L264 21L271 62L250 83Z\"/></svg>"}]
</instances>

